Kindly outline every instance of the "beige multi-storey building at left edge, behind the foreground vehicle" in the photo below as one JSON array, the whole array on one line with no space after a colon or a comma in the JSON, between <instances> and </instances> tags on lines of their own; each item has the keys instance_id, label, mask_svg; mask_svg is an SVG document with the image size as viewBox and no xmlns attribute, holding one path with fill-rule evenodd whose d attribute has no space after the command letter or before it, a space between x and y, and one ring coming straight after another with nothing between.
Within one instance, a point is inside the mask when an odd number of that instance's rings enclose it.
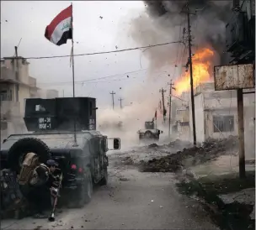
<instances>
[{"instance_id":1,"label":"beige multi-storey building at left edge, behind the foreground vehicle","mask_svg":"<svg viewBox=\"0 0 256 230\"><path fill-rule=\"evenodd\" d=\"M19 71L18 71L19 70ZM25 98L38 97L36 79L29 76L29 62L23 57L1 60L0 72L1 137L26 131Z\"/></svg>"}]
</instances>

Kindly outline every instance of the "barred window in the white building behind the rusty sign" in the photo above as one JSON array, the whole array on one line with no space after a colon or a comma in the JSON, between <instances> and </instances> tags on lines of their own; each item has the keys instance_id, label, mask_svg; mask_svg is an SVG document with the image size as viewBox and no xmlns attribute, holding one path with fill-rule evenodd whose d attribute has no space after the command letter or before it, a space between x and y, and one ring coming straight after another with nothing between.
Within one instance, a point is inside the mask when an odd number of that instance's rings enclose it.
<instances>
[{"instance_id":1,"label":"barred window in the white building behind the rusty sign","mask_svg":"<svg viewBox=\"0 0 256 230\"><path fill-rule=\"evenodd\" d=\"M234 116L213 116L213 132L234 131Z\"/></svg>"}]
</instances>

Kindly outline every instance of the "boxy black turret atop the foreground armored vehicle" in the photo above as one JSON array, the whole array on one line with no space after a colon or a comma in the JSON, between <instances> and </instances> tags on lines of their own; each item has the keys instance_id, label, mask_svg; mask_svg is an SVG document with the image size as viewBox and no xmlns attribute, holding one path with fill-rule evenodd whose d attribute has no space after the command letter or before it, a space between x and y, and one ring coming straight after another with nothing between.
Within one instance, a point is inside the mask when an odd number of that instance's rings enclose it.
<instances>
[{"instance_id":1,"label":"boxy black turret atop the foreground armored vehicle","mask_svg":"<svg viewBox=\"0 0 256 230\"><path fill-rule=\"evenodd\" d=\"M45 132L96 129L96 99L92 97L29 98L24 123L28 131Z\"/></svg>"}]
</instances>

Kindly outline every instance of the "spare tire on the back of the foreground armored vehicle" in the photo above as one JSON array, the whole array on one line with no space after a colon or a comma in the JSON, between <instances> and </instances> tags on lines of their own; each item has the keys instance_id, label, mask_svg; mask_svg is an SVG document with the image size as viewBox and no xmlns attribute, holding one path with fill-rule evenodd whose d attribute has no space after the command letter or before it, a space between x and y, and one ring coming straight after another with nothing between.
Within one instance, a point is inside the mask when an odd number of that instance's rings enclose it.
<instances>
[{"instance_id":1,"label":"spare tire on the back of the foreground armored vehicle","mask_svg":"<svg viewBox=\"0 0 256 230\"><path fill-rule=\"evenodd\" d=\"M45 163L51 158L50 149L42 140L34 138L19 139L8 151L9 168L19 173L24 156L29 152L37 154L41 163Z\"/></svg>"}]
</instances>

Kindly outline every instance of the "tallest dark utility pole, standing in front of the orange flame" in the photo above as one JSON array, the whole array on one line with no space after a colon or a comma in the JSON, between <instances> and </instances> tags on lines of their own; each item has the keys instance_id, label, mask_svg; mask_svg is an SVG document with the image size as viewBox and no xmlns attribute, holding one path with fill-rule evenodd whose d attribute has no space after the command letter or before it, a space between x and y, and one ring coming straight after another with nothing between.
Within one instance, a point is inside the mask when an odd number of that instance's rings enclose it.
<instances>
[{"instance_id":1,"label":"tallest dark utility pole, standing in front of the orange flame","mask_svg":"<svg viewBox=\"0 0 256 230\"><path fill-rule=\"evenodd\" d=\"M190 13L189 12L189 3L186 4L187 17L188 17L188 34L189 34L189 60L187 65L189 65L190 72L190 92L191 92L191 109L192 109L192 124L193 124L193 139L194 145L196 145L196 133L195 133L195 100L194 100L194 84L193 84L193 65L192 65L192 51L191 51L191 30L190 30Z\"/></svg>"}]
</instances>

